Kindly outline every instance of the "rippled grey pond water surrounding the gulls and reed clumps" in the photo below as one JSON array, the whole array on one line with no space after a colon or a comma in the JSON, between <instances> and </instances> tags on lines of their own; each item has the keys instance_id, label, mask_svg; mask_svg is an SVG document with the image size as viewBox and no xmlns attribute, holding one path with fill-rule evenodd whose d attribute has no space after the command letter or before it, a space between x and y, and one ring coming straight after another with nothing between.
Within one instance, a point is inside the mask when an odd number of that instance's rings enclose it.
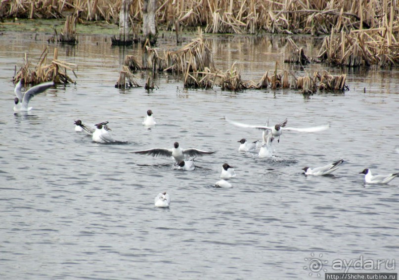
<instances>
[{"instance_id":1,"label":"rippled grey pond water surrounding the gulls and reed clumps","mask_svg":"<svg viewBox=\"0 0 399 280\"><path fill-rule=\"evenodd\" d=\"M23 65L24 53L36 64L47 37L0 36L1 279L316 279L311 258L327 261L327 272L344 272L331 267L337 259L383 259L392 267L399 179L365 185L358 173L399 171L397 69L330 68L347 71L350 91L309 98L295 90L187 90L164 73L154 91L123 91L114 84L124 55L141 57L140 47L123 50L109 38L82 35L76 47L49 45L49 57L58 47L60 60L78 64L76 85L49 89L31 101L31 112L14 114L14 66ZM283 64L283 37L210 40L217 67L237 62L244 79L260 79L276 60L279 69L304 73ZM298 43L317 53L309 38ZM142 84L146 77L138 73ZM147 109L155 128L141 125ZM331 128L285 132L273 143L274 157L259 159L239 153L237 141L260 140L261 132L223 116ZM74 132L76 119L108 120L113 137L128 143L94 143ZM171 159L130 153L175 141L217 152L196 158L192 172L174 170ZM345 163L332 176L302 174L305 166L339 159ZM237 177L232 188L216 189L225 162ZM154 207L163 191L171 195L169 209Z\"/></svg>"}]
</instances>

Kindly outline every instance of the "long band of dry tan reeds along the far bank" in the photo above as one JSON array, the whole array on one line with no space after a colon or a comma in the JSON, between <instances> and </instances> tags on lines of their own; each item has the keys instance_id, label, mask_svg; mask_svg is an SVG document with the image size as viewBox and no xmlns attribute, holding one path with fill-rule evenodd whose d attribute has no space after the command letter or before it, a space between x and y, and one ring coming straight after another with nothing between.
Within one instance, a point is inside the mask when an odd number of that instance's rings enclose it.
<instances>
[{"instance_id":1,"label":"long band of dry tan reeds along the far bank","mask_svg":"<svg viewBox=\"0 0 399 280\"><path fill-rule=\"evenodd\" d=\"M56 18L71 12L85 20L119 22L123 0L1 1L2 17ZM131 21L142 22L143 0L129 7ZM396 0L159 0L158 24L168 29L205 26L209 33L329 34L375 29L391 22L398 33ZM396 34L397 35L397 34Z\"/></svg>"}]
</instances>

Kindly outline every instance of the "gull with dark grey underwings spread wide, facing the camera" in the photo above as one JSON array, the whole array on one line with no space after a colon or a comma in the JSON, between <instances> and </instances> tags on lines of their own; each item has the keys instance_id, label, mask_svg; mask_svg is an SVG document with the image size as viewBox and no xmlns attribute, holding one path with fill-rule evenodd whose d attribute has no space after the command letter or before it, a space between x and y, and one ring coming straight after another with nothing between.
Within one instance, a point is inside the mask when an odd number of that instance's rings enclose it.
<instances>
[{"instance_id":1,"label":"gull with dark grey underwings spread wide, facing the camera","mask_svg":"<svg viewBox=\"0 0 399 280\"><path fill-rule=\"evenodd\" d=\"M203 155L209 155L213 154L213 152L207 152L207 151L202 151L198 149L182 149L179 147L178 142L174 143L174 147L171 149L167 148L154 148L154 149L148 149L148 150L143 150L143 151L135 151L132 153L137 153L137 154L144 154L144 155L151 155L153 157L156 156L163 156L163 157L173 157L177 163L180 161L184 160L185 157L196 157L196 156L203 156Z\"/></svg>"}]
</instances>

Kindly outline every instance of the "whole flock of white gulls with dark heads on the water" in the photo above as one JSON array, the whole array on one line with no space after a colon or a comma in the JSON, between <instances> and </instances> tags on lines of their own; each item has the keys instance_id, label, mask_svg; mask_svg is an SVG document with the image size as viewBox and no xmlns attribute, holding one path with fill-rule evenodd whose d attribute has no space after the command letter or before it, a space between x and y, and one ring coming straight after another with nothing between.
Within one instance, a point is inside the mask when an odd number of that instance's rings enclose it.
<instances>
[{"instance_id":1,"label":"whole flock of white gulls with dark heads on the water","mask_svg":"<svg viewBox=\"0 0 399 280\"><path fill-rule=\"evenodd\" d=\"M22 93L22 83L23 79L20 79L19 82L15 86L15 94L16 98L14 99L14 112L26 112L30 111L32 107L29 107L29 101L36 95L44 92L48 88L54 86L54 82L44 82L39 85L33 86L29 90ZM296 132L305 132L305 133L313 133L320 132L329 129L329 125L321 125L321 126L313 126L306 128L294 128L294 127L286 127L287 119L284 121L275 124L274 126L269 126L269 120L267 119L265 126L258 125L250 125L244 124L241 122L233 121L228 118L224 118L228 123L241 127L241 128L255 128L262 130L262 141L254 141L248 142L246 139L241 139L238 142L240 143L238 147L239 152L243 153L252 153L256 154L256 156L260 158L270 158L272 157L272 141L277 138L277 141L280 141L280 136L283 131L296 131ZM146 127L154 127L156 125L155 118L153 116L152 110L148 110L146 116L143 119L142 124ZM112 138L110 131L111 129L108 126L108 121L98 123L94 126L85 125L81 120L75 121L75 131L76 132L84 132L92 137L94 142L98 143L115 143L119 142ZM258 148L260 149L258 151ZM397 149L398 150L398 149ZM398 150L399 152L399 150ZM182 149L179 146L178 142L174 143L173 148L152 148L142 151L134 151L133 153L143 154L143 155L151 155L153 157L162 156L167 158L173 158L175 160L175 167L177 169L192 171L195 169L194 158L198 156L210 155L215 153L215 151L203 151L199 149L189 148ZM344 160L339 160L331 164L327 164L321 167L305 167L303 168L305 175L329 175L336 171L339 166L344 162ZM364 174L364 180L366 183L370 184L387 184L395 177L399 175L399 173L393 173L389 175L372 175L370 169L366 168L359 174ZM219 188L231 188L231 183L225 179L233 178L236 174L232 166L224 163L222 165L222 173L221 180L215 183L215 187ZM166 192L159 193L155 199L154 204L156 207L169 207L171 204L171 197Z\"/></svg>"}]
</instances>

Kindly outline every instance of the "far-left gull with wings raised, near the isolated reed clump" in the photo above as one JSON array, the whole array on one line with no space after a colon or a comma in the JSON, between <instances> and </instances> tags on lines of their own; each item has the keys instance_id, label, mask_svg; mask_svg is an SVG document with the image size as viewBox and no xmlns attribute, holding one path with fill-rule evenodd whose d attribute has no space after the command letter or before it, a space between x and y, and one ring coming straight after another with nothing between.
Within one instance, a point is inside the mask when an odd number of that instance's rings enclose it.
<instances>
[{"instance_id":1,"label":"far-left gull with wings raised, near the isolated reed clump","mask_svg":"<svg viewBox=\"0 0 399 280\"><path fill-rule=\"evenodd\" d=\"M54 82L45 82L38 84L36 86L31 87L29 90L25 92L25 94L22 94L22 82L23 79L20 79L17 85L15 86L14 92L15 95L17 96L14 99L14 112L20 112L20 111L30 111L32 110L32 107L28 107L29 101L35 96L38 95L39 93L44 92L46 89L54 86Z\"/></svg>"}]
</instances>

